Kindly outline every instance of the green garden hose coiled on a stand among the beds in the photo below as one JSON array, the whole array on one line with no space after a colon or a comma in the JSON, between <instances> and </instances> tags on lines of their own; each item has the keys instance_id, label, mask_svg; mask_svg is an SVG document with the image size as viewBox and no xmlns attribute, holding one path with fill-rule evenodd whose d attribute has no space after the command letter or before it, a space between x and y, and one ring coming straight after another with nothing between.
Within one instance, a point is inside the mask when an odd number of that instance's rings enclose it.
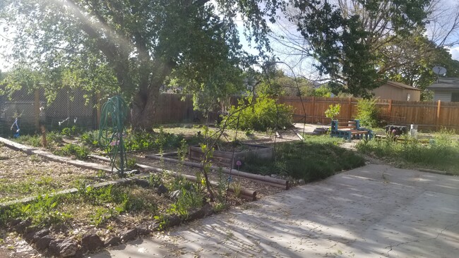
<instances>
[{"instance_id":1,"label":"green garden hose coiled on a stand among the beds","mask_svg":"<svg viewBox=\"0 0 459 258\"><path fill-rule=\"evenodd\" d=\"M121 96L111 97L102 106L99 124L99 144L109 154L112 172L116 168L121 178L124 177L124 168L127 168L123 141L127 110L126 102Z\"/></svg>"}]
</instances>

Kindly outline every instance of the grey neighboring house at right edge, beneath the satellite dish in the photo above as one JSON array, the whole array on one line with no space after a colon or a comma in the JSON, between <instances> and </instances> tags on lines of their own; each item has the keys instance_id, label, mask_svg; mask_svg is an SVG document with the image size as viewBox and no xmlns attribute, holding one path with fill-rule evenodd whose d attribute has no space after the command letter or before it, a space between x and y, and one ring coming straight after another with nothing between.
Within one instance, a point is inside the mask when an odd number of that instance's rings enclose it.
<instances>
[{"instance_id":1,"label":"grey neighboring house at right edge, beneath the satellite dish","mask_svg":"<svg viewBox=\"0 0 459 258\"><path fill-rule=\"evenodd\" d=\"M434 91L434 102L459 102L459 78L439 78L427 89Z\"/></svg>"}]
</instances>

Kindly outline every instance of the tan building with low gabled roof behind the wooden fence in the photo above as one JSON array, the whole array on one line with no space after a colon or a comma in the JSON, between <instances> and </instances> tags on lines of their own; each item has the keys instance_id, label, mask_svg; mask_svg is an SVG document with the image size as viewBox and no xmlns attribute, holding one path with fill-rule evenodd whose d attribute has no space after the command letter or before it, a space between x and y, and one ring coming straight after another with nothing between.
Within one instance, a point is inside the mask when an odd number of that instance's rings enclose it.
<instances>
[{"instance_id":1,"label":"tan building with low gabled roof behind the wooden fence","mask_svg":"<svg viewBox=\"0 0 459 258\"><path fill-rule=\"evenodd\" d=\"M374 97L380 99L404 100L409 102L419 102L421 100L421 90L405 85L400 82L388 80L384 85L372 90Z\"/></svg>"}]
</instances>

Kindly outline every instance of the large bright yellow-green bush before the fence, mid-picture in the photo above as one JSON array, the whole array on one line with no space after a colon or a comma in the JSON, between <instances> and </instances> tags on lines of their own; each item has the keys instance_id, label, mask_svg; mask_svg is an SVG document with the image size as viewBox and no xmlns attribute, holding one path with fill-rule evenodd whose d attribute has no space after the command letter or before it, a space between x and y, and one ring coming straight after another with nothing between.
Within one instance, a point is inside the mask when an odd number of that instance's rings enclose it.
<instances>
[{"instance_id":1,"label":"large bright yellow-green bush before the fence, mid-picture","mask_svg":"<svg viewBox=\"0 0 459 258\"><path fill-rule=\"evenodd\" d=\"M250 99L249 99L250 101ZM239 106L244 105L244 100L239 102ZM239 116L239 129L241 130L275 130L292 125L293 108L285 104L276 104L275 99L269 97L258 97L253 106L237 111L239 107L232 106L226 116L229 128L237 127L237 117Z\"/></svg>"}]
</instances>

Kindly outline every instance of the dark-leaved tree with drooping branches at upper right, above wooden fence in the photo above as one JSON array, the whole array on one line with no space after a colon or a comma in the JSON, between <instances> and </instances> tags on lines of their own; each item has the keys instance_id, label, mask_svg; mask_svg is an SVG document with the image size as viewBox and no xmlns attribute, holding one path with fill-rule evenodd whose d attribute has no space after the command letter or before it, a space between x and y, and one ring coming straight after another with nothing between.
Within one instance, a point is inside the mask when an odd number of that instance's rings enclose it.
<instances>
[{"instance_id":1,"label":"dark-leaved tree with drooping branches at upper right, above wooden fence","mask_svg":"<svg viewBox=\"0 0 459 258\"><path fill-rule=\"evenodd\" d=\"M430 0L294 0L299 10L291 16L307 42L306 54L320 63L321 74L330 76L334 93L369 97L381 85L386 67L378 53L396 37L406 37L423 25Z\"/></svg>"}]
</instances>

